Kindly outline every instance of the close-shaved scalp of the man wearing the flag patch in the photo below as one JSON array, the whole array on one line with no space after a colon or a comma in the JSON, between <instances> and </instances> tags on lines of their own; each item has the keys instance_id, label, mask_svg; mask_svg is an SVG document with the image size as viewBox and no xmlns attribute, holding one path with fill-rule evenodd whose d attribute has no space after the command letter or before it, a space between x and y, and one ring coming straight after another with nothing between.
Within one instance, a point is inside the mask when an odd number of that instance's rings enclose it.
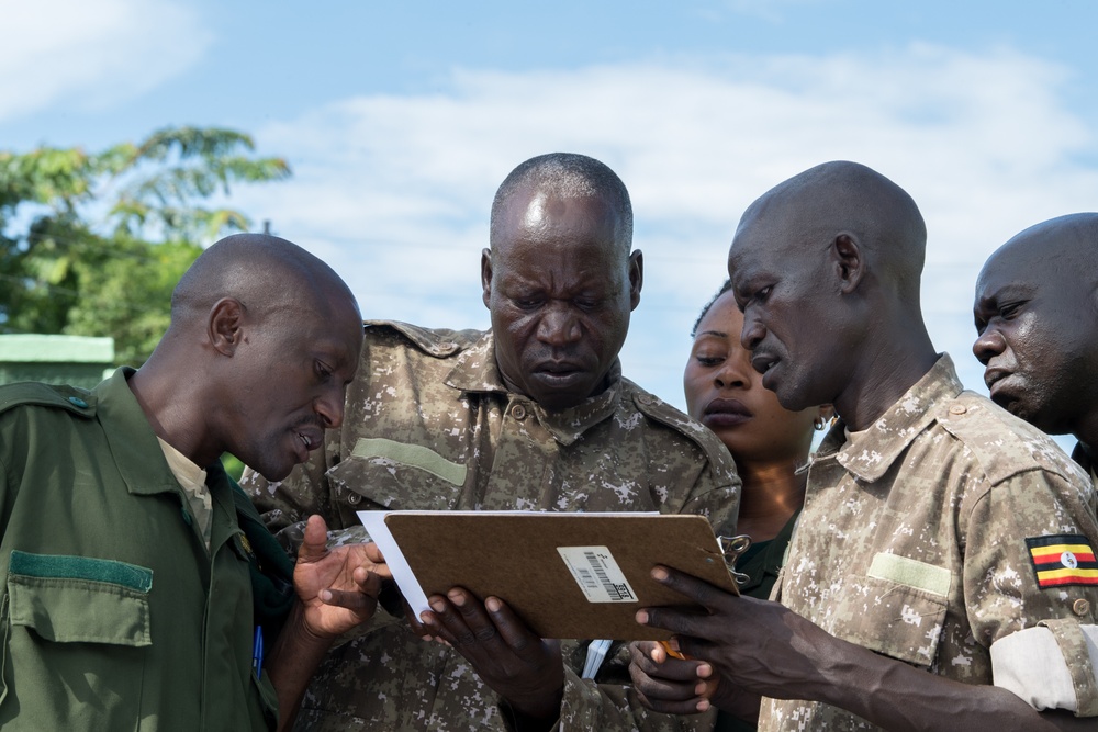
<instances>
[{"instance_id":1,"label":"close-shaved scalp of the man wearing the flag patch","mask_svg":"<svg viewBox=\"0 0 1098 732\"><path fill-rule=\"evenodd\" d=\"M792 235L787 241L807 249L850 234L876 272L906 302L918 304L927 225L911 196L872 168L847 160L809 168L748 206L737 233L776 221Z\"/></svg>"}]
</instances>

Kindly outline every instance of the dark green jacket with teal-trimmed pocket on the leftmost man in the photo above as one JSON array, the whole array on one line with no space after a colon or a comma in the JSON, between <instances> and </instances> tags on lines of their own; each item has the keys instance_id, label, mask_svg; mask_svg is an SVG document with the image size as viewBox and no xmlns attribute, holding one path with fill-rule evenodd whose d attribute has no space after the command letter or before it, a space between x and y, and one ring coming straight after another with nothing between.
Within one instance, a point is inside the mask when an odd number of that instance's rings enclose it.
<instances>
[{"instance_id":1,"label":"dark green jacket with teal-trimmed pocket on the leftmost man","mask_svg":"<svg viewBox=\"0 0 1098 732\"><path fill-rule=\"evenodd\" d=\"M0 728L272 729L232 483L208 552L128 373L0 387Z\"/></svg>"}]
</instances>

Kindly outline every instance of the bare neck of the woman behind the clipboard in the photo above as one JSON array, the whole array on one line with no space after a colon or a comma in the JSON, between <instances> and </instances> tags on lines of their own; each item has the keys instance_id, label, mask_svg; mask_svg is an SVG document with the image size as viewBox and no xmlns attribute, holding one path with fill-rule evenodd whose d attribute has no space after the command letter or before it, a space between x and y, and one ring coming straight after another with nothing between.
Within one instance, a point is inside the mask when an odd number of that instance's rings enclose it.
<instances>
[{"instance_id":1,"label":"bare neck of the woman behind the clipboard","mask_svg":"<svg viewBox=\"0 0 1098 732\"><path fill-rule=\"evenodd\" d=\"M736 465L743 481L738 533L755 542L773 539L805 503L807 475L794 472L795 459Z\"/></svg>"}]
</instances>

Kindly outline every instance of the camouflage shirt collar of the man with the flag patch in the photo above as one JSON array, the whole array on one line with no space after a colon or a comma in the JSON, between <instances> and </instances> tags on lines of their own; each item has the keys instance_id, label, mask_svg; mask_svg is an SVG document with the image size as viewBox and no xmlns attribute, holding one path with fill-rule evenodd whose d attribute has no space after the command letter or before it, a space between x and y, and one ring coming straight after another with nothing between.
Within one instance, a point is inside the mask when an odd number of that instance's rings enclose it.
<instances>
[{"instance_id":1,"label":"camouflage shirt collar of the man with the flag patch","mask_svg":"<svg viewBox=\"0 0 1098 732\"><path fill-rule=\"evenodd\" d=\"M837 419L817 451L819 458L834 454L840 465L865 483L879 480L907 447L934 419L934 407L960 394L964 387L948 353L938 357L922 379L893 404L856 442L847 442L845 423Z\"/></svg>"}]
</instances>

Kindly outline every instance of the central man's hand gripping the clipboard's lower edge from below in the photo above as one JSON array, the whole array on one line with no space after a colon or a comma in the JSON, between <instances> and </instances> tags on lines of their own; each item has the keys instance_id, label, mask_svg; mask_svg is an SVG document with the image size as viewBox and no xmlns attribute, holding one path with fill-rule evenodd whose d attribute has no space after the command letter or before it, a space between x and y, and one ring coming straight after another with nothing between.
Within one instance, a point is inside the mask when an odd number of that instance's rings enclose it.
<instances>
[{"instance_id":1,"label":"central man's hand gripping the clipboard's lower edge from below","mask_svg":"<svg viewBox=\"0 0 1098 732\"><path fill-rule=\"evenodd\" d=\"M560 642L538 638L498 597L481 603L455 587L428 598L425 633L449 643L503 697L523 730L551 729L560 717L564 666Z\"/></svg>"}]
</instances>

